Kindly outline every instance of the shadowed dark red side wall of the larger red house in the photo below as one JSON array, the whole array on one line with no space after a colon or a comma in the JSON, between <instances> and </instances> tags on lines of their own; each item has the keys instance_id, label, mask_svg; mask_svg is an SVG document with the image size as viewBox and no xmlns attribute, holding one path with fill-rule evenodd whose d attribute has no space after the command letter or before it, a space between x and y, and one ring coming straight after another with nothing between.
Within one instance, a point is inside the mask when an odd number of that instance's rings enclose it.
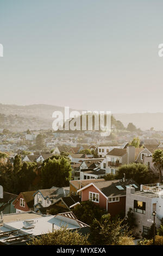
<instances>
[{"instance_id":1,"label":"shadowed dark red side wall of the larger red house","mask_svg":"<svg viewBox=\"0 0 163 256\"><path fill-rule=\"evenodd\" d=\"M126 196L120 197L119 202L111 202L108 203L108 213L111 216L115 216L117 214L121 214L126 210Z\"/></svg>"}]
</instances>

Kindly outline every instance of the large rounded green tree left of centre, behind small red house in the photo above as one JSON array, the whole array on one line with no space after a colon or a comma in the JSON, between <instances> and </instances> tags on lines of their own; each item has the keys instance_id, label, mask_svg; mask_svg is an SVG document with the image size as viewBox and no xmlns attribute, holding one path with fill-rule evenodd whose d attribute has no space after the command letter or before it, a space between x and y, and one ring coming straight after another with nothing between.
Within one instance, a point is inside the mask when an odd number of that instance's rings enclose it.
<instances>
[{"instance_id":1,"label":"large rounded green tree left of centre, behind small red house","mask_svg":"<svg viewBox=\"0 0 163 256\"><path fill-rule=\"evenodd\" d=\"M52 186L64 187L69 185L71 179L70 160L65 156L56 156L42 163L41 183L43 188Z\"/></svg>"}]
</instances>

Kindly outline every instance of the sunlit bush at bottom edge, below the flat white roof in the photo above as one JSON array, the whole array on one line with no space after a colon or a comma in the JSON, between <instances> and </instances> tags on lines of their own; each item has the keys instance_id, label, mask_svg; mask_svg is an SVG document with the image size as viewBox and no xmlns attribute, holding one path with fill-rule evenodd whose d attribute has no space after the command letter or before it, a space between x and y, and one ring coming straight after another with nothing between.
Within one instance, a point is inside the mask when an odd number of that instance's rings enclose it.
<instances>
[{"instance_id":1,"label":"sunlit bush at bottom edge, below the flat white roof","mask_svg":"<svg viewBox=\"0 0 163 256\"><path fill-rule=\"evenodd\" d=\"M90 245L89 235L82 235L77 230L71 231L66 227L54 230L53 233L36 237L28 245Z\"/></svg>"}]
</instances>

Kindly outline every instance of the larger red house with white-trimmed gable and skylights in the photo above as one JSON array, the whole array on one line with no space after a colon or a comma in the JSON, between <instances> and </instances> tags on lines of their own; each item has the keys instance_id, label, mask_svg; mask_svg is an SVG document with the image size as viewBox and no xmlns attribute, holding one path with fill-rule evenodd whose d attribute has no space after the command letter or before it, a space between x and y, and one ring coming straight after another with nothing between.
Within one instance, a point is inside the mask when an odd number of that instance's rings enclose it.
<instances>
[{"instance_id":1,"label":"larger red house with white-trimmed gable and skylights","mask_svg":"<svg viewBox=\"0 0 163 256\"><path fill-rule=\"evenodd\" d=\"M128 180L109 180L93 181L80 188L78 192L81 194L81 200L91 200L99 205L101 209L105 209L112 216L121 214L126 210L126 188L130 185L135 187L136 191L140 190L140 186L132 179Z\"/></svg>"}]
</instances>

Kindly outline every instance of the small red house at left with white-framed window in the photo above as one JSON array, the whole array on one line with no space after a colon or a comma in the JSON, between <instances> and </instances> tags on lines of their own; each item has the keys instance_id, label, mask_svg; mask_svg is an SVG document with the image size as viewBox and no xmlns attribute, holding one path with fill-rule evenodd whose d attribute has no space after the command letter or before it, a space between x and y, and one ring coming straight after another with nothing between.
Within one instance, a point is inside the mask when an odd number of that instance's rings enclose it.
<instances>
[{"instance_id":1,"label":"small red house at left with white-framed window","mask_svg":"<svg viewBox=\"0 0 163 256\"><path fill-rule=\"evenodd\" d=\"M34 196L36 191L21 192L13 202L16 213L34 210Z\"/></svg>"}]
</instances>

